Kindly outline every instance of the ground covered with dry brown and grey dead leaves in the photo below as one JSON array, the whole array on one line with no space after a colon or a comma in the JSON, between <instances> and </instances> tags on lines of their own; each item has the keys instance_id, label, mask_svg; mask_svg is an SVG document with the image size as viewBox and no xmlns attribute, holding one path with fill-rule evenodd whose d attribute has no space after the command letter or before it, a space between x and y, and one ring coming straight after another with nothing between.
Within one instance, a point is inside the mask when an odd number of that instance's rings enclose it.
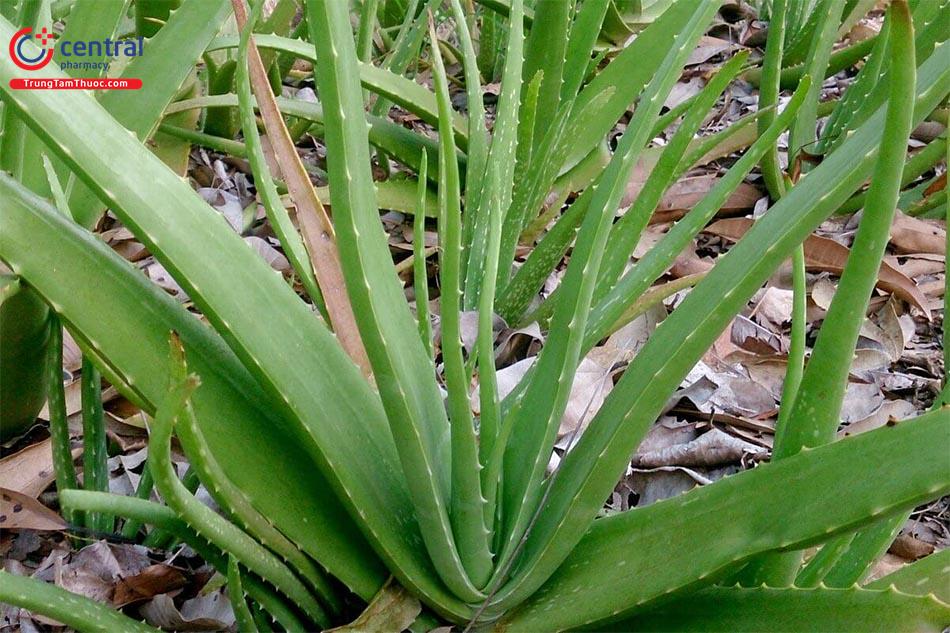
<instances>
[{"instance_id":1,"label":"ground covered with dry brown and grey dead leaves","mask_svg":"<svg viewBox=\"0 0 950 633\"><path fill-rule=\"evenodd\" d=\"M741 7L741 5L739 5ZM749 49L761 54L764 24L754 15L735 10L726 14L709 31L694 51L680 84L667 107L674 107L696 94L706 79L735 51ZM867 37L880 28L880 15L871 14L855 27L852 39ZM452 70L452 69L450 69ZM847 86L853 73L839 73L827 80L825 96L833 98ZM423 74L419 80L428 80ZM286 87L286 96L312 99L309 85ZM488 97L492 87L488 87ZM459 93L461 95L461 93ZM464 98L460 98L464 103ZM486 99L490 103L491 99ZM716 112L707 121L704 134L721 130L738 117L753 112L757 95L754 87L734 82ZM406 112L395 112L399 123L425 130L425 125ZM429 130L431 133L431 130ZM912 140L917 147L941 132L940 126L925 124ZM623 125L616 134L623 133ZM662 145L664 137L655 139ZM728 149L728 148L727 148ZM325 184L325 156L319 140L305 137L299 151L318 185ZM709 189L734 160L732 151L710 156L674 185L664 196L645 232L635 256L645 252ZM641 165L630 182L625 204L635 198L645 181L649 165ZM379 170L379 177L399 178L398 173ZM945 183L946 165L925 174L920 180ZM235 231L253 246L274 269L291 274L279 243L264 221L257 204L253 178L246 161L195 148L188 173L197 191L216 208ZM944 184L945 186L945 184ZM556 204L557 201L549 201ZM739 187L691 248L657 283L669 284L689 275L702 274L713 261L742 236L751 219L768 207L768 198L759 177L753 174ZM621 209L620 213L623 213ZM556 211L556 209L555 209ZM848 257L859 214L836 216L825 222L805 244L808 269L808 343L826 314L834 296L838 275ZM409 301L414 301L411 256L415 239L424 239L427 253L435 251L436 235L414 235L412 218L399 211L382 216L389 235L394 260L400 266ZM543 229L543 227L541 227ZM938 392L943 375L941 328L943 321L945 223L923 220L899 213L895 221L888 256L882 266L875 295L871 300L852 366L847 397L842 412L840 434L860 433L912 417L924 411ZM99 227L100 237L117 252L134 262L145 275L179 301L190 305L185 292L130 231L107 217ZM523 245L522 255L530 245ZM344 254L345 255L345 254ZM434 262L430 260L430 281L435 285ZM561 271L563 272L563 270ZM546 291L558 282L549 280ZM626 476L606 500L604 512L626 510L680 494L739 470L752 468L769 459L775 419L785 374L792 309L790 268L780 270L748 303L690 372L679 392L671 398L646 440L633 456ZM437 297L438 289L430 288ZM674 292L652 306L627 326L602 341L581 363L570 404L562 420L560 438L551 467L583 432L629 360L669 311L688 290ZM438 313L438 301L431 311ZM435 317L437 319L437 316ZM436 324L437 325L437 324ZM463 322L463 338L472 345L476 319ZM437 328L436 328L437 331ZM513 329L496 323L499 388L504 395L513 388L533 363L544 345L543 330L537 324ZM71 416L74 455L81 460L79 421L80 352L67 340L64 380ZM144 415L111 387L104 392L110 439L110 489L134 494L145 459ZM472 397L477 411L477 391ZM178 453L179 472L188 476L188 465ZM56 512L50 439L45 412L26 435L3 446L0 460L0 556L6 569L32 575L93 599L125 608L146 621L169 629L226 630L234 616L222 592L223 580L188 547L171 537L153 539L149 547L119 535L90 534L68 526ZM213 505L198 489L200 499ZM950 544L950 501L944 498L919 508L903 527L874 576ZM0 630L59 630L55 622L16 608L0 606Z\"/></svg>"}]
</instances>

